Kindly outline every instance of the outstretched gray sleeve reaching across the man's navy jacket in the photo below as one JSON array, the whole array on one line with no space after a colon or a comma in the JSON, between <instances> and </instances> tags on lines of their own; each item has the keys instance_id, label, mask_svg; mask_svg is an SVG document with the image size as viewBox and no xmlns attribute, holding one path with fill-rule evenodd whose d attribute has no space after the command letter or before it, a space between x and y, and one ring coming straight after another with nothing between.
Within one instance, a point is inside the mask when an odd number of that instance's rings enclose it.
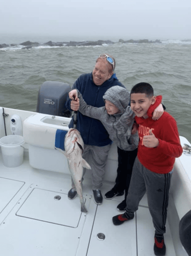
<instances>
[{"instance_id":1,"label":"outstretched gray sleeve reaching across the man's navy jacket","mask_svg":"<svg viewBox=\"0 0 191 256\"><path fill-rule=\"evenodd\" d=\"M78 90L77 90L78 91ZM82 94L78 91L78 98L80 100L80 107L79 111L85 116L92 117L95 119L100 119L102 116L102 113L105 109L105 106L102 106L101 108L96 108L96 106L88 105L85 100L82 97Z\"/></svg>"}]
</instances>

